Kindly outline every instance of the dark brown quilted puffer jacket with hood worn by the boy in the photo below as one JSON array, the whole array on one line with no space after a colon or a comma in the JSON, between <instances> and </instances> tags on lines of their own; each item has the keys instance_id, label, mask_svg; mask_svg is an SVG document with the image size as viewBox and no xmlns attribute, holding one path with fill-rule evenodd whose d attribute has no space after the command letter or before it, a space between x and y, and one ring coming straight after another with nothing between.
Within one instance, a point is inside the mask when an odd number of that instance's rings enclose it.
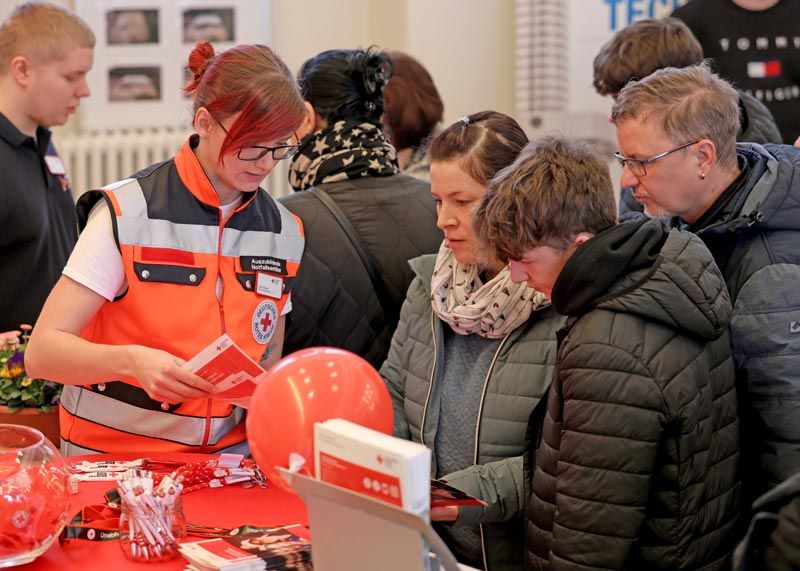
<instances>
[{"instance_id":1,"label":"dark brown quilted puffer jacket with hood worn by the boy","mask_svg":"<svg viewBox=\"0 0 800 571\"><path fill-rule=\"evenodd\" d=\"M711 254L623 223L573 254L553 304L569 317L529 426L525 568L728 568L739 423Z\"/></svg>"}]
</instances>

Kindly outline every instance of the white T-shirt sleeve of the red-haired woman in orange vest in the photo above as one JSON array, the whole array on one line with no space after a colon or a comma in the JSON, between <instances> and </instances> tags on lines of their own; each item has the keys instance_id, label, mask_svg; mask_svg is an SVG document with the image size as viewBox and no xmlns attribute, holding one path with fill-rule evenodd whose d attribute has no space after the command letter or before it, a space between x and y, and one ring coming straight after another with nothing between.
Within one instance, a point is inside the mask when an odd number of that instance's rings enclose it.
<instances>
[{"instance_id":1,"label":"white T-shirt sleeve of the red-haired woman in orange vest","mask_svg":"<svg viewBox=\"0 0 800 571\"><path fill-rule=\"evenodd\" d=\"M122 254L114 240L108 204L98 202L67 261L64 275L114 301L125 286Z\"/></svg>"}]
</instances>

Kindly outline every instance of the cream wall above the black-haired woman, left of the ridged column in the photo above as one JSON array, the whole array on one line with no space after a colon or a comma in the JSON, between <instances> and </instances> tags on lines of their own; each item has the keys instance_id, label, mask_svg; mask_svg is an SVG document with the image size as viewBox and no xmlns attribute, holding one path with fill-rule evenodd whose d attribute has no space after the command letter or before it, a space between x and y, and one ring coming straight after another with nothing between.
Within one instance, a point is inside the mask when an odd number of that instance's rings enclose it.
<instances>
[{"instance_id":1,"label":"cream wall above the black-haired woman, left of the ridged column","mask_svg":"<svg viewBox=\"0 0 800 571\"><path fill-rule=\"evenodd\" d=\"M273 0L272 39L294 71L326 49L408 52L431 72L448 123L514 112L513 0Z\"/></svg>"}]
</instances>

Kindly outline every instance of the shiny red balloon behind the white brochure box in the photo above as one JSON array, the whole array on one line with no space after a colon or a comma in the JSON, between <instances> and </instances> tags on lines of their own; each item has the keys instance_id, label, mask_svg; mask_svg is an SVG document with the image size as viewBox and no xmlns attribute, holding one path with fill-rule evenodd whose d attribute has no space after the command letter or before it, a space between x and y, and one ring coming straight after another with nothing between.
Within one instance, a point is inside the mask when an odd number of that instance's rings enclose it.
<instances>
[{"instance_id":1,"label":"shiny red balloon behind the white brochure box","mask_svg":"<svg viewBox=\"0 0 800 571\"><path fill-rule=\"evenodd\" d=\"M270 482L291 491L275 467L288 468L292 452L314 475L314 423L332 418L392 434L392 399L372 365L343 349L312 347L270 368L247 411L250 451Z\"/></svg>"}]
</instances>

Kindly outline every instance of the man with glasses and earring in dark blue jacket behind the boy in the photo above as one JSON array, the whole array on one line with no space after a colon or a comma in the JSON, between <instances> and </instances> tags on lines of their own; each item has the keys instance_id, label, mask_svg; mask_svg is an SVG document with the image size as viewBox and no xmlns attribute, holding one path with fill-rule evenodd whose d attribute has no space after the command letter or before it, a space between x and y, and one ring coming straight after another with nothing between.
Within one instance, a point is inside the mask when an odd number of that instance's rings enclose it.
<instances>
[{"instance_id":1,"label":"man with glasses and earring in dark blue jacket behind the boy","mask_svg":"<svg viewBox=\"0 0 800 571\"><path fill-rule=\"evenodd\" d=\"M714 254L734 315L746 501L800 470L800 149L736 143L736 91L703 66L628 84L612 110L622 186Z\"/></svg>"}]
</instances>

